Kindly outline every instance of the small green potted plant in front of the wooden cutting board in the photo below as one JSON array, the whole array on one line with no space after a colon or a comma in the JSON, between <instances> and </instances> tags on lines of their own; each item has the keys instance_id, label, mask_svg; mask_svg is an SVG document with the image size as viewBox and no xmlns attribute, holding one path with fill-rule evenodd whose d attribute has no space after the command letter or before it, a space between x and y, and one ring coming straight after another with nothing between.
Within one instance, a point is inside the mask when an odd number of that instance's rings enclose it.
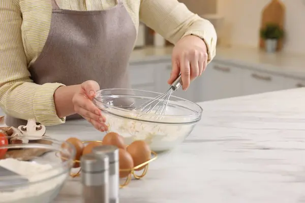
<instances>
[{"instance_id":1,"label":"small green potted plant in front of the wooden cutting board","mask_svg":"<svg viewBox=\"0 0 305 203\"><path fill-rule=\"evenodd\" d=\"M260 30L260 36L265 40L265 49L267 52L277 50L278 41L284 37L284 30L277 24L269 23Z\"/></svg>"}]
</instances>

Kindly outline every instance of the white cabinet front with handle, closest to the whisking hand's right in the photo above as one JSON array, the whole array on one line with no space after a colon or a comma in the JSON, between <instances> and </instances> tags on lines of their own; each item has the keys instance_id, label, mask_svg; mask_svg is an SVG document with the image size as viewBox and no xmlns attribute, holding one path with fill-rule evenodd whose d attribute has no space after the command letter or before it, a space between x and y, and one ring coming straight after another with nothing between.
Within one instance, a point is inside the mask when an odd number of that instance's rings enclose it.
<instances>
[{"instance_id":1,"label":"white cabinet front with handle, closest to the whisking hand's right","mask_svg":"<svg viewBox=\"0 0 305 203\"><path fill-rule=\"evenodd\" d=\"M200 100L214 100L226 97L240 96L242 69L225 63L211 62L207 65L199 80Z\"/></svg>"}]
</instances>

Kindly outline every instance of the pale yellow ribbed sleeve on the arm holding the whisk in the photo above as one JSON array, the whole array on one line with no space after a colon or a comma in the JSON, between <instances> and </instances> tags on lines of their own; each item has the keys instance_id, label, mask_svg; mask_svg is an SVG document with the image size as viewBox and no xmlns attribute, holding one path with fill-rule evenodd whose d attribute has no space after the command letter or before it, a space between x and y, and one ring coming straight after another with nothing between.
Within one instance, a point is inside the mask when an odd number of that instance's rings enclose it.
<instances>
[{"instance_id":1,"label":"pale yellow ribbed sleeve on the arm holding the whisk","mask_svg":"<svg viewBox=\"0 0 305 203\"><path fill-rule=\"evenodd\" d=\"M142 1L139 15L142 22L173 44L189 35L203 39L207 47L207 62L215 57L217 33L214 25L192 13L185 4L177 0Z\"/></svg>"}]
</instances>

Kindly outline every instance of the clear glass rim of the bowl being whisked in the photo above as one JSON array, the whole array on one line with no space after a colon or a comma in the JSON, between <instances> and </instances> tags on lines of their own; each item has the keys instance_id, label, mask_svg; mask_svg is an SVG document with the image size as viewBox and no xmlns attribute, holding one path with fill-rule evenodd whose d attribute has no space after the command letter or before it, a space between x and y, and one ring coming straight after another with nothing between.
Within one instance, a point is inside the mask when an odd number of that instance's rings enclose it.
<instances>
[{"instance_id":1,"label":"clear glass rim of the bowl being whisked","mask_svg":"<svg viewBox=\"0 0 305 203\"><path fill-rule=\"evenodd\" d=\"M136 91L136 92L146 92L146 93L156 94L156 96L162 94L162 93L155 92L155 91L147 91L147 90L140 90L140 89L128 89L128 88L101 89L101 90L98 90L96 92L96 96L93 98L93 102L94 102L95 106L98 107L99 109L101 109L101 107L99 107L99 105L97 105L97 102L103 103L102 101L97 99L97 96L102 95L101 92L103 92L103 91L104 92L105 91L113 91L113 90L114 91L115 90L127 90L127 91ZM116 113L113 113L113 112L105 110L105 109L101 109L101 110L106 111L107 113L112 114L114 116L118 116L118 117L122 117L122 118L127 118L127 119L141 121L141 122L160 123L160 124L191 124L191 123L197 123L201 119L203 109L198 104L194 103L193 101L190 101L190 100L187 100L185 98L178 97L178 96L171 95L171 97L180 99L182 101L187 101L188 103L196 106L196 108L198 108L198 111L196 111L196 113L194 112L194 114L189 114L189 115L162 115L162 118L171 118L171 117L175 117L175 118L177 118L177 117L184 117L184 118L190 117L190 118L192 118L192 117L194 117L194 119L190 119L188 121L183 121L183 122L170 122L170 121L164 122L164 121L162 121L162 119L161 120L139 119L139 118L133 118L133 117L128 117L128 116L116 114ZM114 106L111 106L111 105L108 105L108 104L105 104L105 103L103 103L103 105L106 106L109 109L115 109L115 110L118 110L118 111L121 111L121 112L136 113L136 114L139 114L139 115L151 116L151 114L149 114L149 113L134 112L134 111L131 111L131 110L128 110L128 109L122 109L122 108L119 108L119 107L114 107Z\"/></svg>"}]
</instances>

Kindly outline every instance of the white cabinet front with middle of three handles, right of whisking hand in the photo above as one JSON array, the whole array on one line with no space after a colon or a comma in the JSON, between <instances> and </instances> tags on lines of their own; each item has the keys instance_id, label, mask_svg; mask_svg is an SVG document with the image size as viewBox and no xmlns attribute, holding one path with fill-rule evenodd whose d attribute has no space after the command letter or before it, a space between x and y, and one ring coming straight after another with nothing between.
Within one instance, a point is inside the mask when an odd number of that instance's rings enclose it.
<instances>
[{"instance_id":1,"label":"white cabinet front with middle of three handles, right of whisking hand","mask_svg":"<svg viewBox=\"0 0 305 203\"><path fill-rule=\"evenodd\" d=\"M242 76L242 94L258 94L263 92L277 91L285 89L283 76L276 76L269 73L244 70Z\"/></svg>"}]
</instances>

